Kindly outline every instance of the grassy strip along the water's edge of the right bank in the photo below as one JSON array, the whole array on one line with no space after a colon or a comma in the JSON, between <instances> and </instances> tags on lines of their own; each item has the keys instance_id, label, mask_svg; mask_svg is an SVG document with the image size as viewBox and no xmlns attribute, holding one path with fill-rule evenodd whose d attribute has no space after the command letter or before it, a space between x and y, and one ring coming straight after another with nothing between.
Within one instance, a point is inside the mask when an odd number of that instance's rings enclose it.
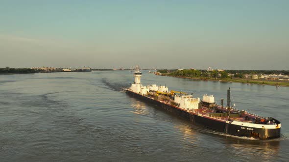
<instances>
[{"instance_id":1,"label":"grassy strip along the water's edge of the right bank","mask_svg":"<svg viewBox=\"0 0 289 162\"><path fill-rule=\"evenodd\" d=\"M289 86L289 81L268 81L268 80L260 81L260 80L254 80L254 79L238 79L238 78L216 80L215 78L192 78L192 77L182 77L182 76L172 76L172 77L187 78L187 79L202 80L202 81L226 81L226 82L240 82L240 83L246 83L246 84Z\"/></svg>"}]
</instances>

